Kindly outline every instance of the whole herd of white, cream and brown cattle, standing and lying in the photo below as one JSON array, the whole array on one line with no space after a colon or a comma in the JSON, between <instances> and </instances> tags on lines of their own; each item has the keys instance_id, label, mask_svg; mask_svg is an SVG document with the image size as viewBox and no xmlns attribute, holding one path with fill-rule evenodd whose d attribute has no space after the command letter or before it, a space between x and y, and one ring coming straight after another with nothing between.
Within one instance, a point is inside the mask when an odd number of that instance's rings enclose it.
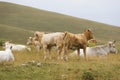
<instances>
[{"instance_id":1,"label":"whole herd of white, cream and brown cattle, standing and lying","mask_svg":"<svg viewBox=\"0 0 120 80\"><path fill-rule=\"evenodd\" d=\"M53 46L57 49L58 60L61 59L66 61L68 61L68 51L72 48L76 49L76 51L71 53L70 56L78 55L78 59L80 56L84 56L85 60L87 59L86 56L100 56L109 53L117 53L115 41L108 42L104 45L87 47L89 42L96 42L93 32L90 29L85 30L81 34L73 34L67 31L55 33L36 31L33 37L28 38L27 45L34 45L38 51L43 48L45 61L48 58L48 54L49 59L52 58L51 49ZM5 42L5 51L0 51L0 63L4 61L14 61L11 49L17 51L27 49L28 51L31 51L30 47L12 44L7 41Z\"/></svg>"}]
</instances>

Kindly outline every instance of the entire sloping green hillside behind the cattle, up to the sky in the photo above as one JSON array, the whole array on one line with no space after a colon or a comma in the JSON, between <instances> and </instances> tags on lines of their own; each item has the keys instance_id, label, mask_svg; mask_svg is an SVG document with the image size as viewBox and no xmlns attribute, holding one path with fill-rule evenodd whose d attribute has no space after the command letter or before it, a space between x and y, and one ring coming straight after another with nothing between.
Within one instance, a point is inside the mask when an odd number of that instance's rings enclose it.
<instances>
[{"instance_id":1,"label":"entire sloping green hillside behind the cattle, up to the sky","mask_svg":"<svg viewBox=\"0 0 120 80\"><path fill-rule=\"evenodd\" d=\"M82 33L87 28L99 42L120 40L118 27L6 2L0 2L0 28L0 38L18 43L25 43L31 31Z\"/></svg>"}]
</instances>

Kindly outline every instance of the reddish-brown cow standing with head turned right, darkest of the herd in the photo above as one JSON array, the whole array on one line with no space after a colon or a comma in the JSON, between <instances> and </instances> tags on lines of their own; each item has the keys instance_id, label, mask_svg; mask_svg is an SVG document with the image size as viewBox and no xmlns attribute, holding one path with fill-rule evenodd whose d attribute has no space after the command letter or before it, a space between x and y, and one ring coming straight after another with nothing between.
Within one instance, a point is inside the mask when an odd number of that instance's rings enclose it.
<instances>
[{"instance_id":1,"label":"reddish-brown cow standing with head turned right, darkest of the herd","mask_svg":"<svg viewBox=\"0 0 120 80\"><path fill-rule=\"evenodd\" d=\"M70 32L65 32L64 36L64 55L67 60L68 49L76 47L78 59L80 54L80 48L83 49L84 57L86 60L86 47L88 40L93 39L93 33L91 30L85 30L82 34L72 34Z\"/></svg>"}]
</instances>

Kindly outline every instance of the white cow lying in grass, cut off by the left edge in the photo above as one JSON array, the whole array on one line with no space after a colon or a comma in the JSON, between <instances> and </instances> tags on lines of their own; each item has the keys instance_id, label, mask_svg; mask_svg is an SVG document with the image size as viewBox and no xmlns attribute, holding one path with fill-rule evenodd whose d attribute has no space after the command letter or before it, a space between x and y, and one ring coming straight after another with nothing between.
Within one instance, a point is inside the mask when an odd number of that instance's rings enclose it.
<instances>
[{"instance_id":1,"label":"white cow lying in grass, cut off by the left edge","mask_svg":"<svg viewBox=\"0 0 120 80\"><path fill-rule=\"evenodd\" d=\"M12 45L7 44L5 45L5 51L0 51L0 63L9 62L9 61L14 62L14 55L11 49L12 49Z\"/></svg>"}]
</instances>

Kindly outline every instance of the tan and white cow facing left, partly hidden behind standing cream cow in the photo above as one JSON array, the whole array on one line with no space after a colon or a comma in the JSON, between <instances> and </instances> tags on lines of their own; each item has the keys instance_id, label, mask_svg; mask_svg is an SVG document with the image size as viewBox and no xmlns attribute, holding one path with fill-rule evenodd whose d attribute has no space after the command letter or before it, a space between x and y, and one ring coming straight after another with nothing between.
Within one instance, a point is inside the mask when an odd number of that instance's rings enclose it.
<instances>
[{"instance_id":1,"label":"tan and white cow facing left, partly hidden behind standing cream cow","mask_svg":"<svg viewBox=\"0 0 120 80\"><path fill-rule=\"evenodd\" d=\"M27 45L34 45L38 52L40 51L41 49L41 44L38 40L36 40L34 37L29 37L28 41L27 41Z\"/></svg>"}]
</instances>

